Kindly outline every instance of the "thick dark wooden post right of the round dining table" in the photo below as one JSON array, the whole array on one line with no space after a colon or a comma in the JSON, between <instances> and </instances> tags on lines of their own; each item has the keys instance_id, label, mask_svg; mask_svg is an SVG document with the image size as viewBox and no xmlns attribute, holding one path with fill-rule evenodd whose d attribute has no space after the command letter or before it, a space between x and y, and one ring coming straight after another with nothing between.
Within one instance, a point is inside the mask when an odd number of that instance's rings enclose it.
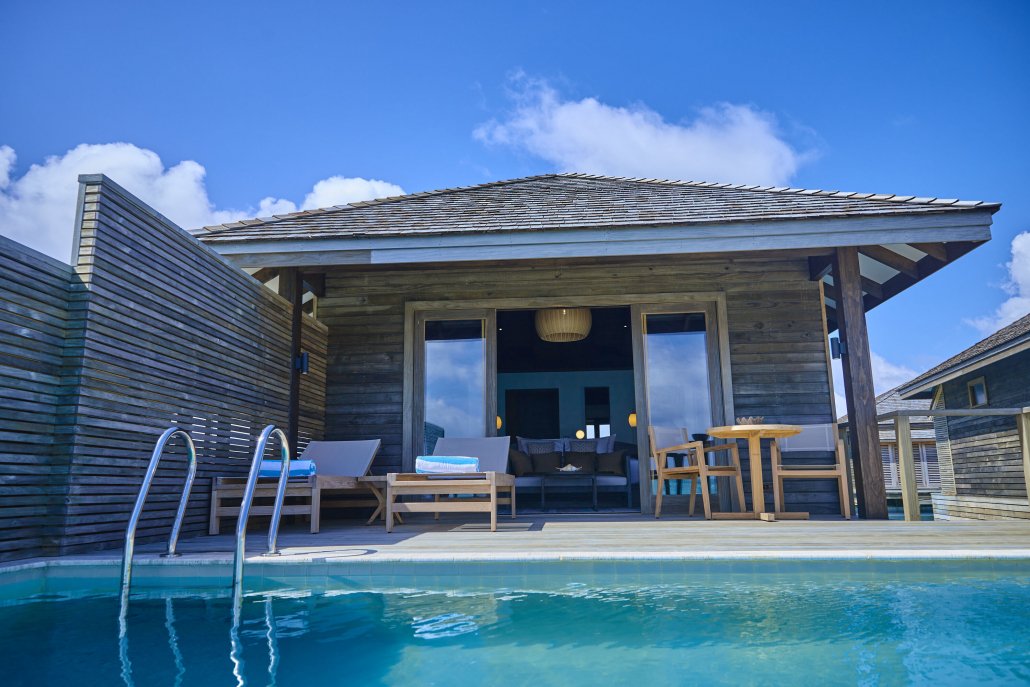
<instances>
[{"instance_id":1,"label":"thick dark wooden post right of the round dining table","mask_svg":"<svg viewBox=\"0 0 1030 687\"><path fill-rule=\"evenodd\" d=\"M858 249L837 248L833 255L833 283L837 290L837 328L845 342L844 391L851 425L852 463L858 514L869 519L887 519L887 489L880 456L880 427L877 398L872 387L872 357L865 308L862 303L862 275Z\"/></svg>"}]
</instances>

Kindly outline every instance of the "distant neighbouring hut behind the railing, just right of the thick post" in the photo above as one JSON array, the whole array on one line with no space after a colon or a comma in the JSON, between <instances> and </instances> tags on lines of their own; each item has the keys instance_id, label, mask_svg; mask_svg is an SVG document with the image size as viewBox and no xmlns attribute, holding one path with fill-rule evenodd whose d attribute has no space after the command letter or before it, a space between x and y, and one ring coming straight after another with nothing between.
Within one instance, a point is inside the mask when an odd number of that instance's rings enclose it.
<instances>
[{"instance_id":1,"label":"distant neighbouring hut behind the railing, just right of the thick post","mask_svg":"<svg viewBox=\"0 0 1030 687\"><path fill-rule=\"evenodd\" d=\"M877 415L885 415L895 410L929 410L929 400L904 400L898 388L900 387L884 391L877 397ZM920 502L928 503L931 493L940 491L940 466L937 461L933 419L929 416L916 416L911 418L911 422L913 456L916 459L916 484L919 488ZM848 416L845 415L837 420L837 424L845 442L850 443ZM880 422L880 450L887 497L900 504L901 477L898 472L897 438L894 423L890 420Z\"/></svg>"}]
</instances>

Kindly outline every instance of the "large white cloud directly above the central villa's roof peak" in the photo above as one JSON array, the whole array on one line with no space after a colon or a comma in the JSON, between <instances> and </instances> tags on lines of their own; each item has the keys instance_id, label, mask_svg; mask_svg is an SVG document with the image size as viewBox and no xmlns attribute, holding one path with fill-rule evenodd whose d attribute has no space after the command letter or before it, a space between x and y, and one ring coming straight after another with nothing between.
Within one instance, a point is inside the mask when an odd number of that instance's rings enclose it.
<instances>
[{"instance_id":1,"label":"large white cloud directly above the central villa's roof peak","mask_svg":"<svg viewBox=\"0 0 1030 687\"><path fill-rule=\"evenodd\" d=\"M563 172L782 185L808 157L781 137L771 114L749 105L719 103L676 124L643 104L563 100L546 81L524 75L515 85L514 110L474 137Z\"/></svg>"}]
</instances>

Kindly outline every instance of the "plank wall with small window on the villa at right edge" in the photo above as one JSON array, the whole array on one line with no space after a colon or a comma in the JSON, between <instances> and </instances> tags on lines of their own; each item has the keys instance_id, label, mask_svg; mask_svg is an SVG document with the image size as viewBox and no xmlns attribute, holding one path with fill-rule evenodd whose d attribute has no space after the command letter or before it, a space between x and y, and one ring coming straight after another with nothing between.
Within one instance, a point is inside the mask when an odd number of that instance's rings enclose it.
<instances>
[{"instance_id":1,"label":"plank wall with small window on the villa at right edge","mask_svg":"<svg viewBox=\"0 0 1030 687\"><path fill-rule=\"evenodd\" d=\"M969 407L966 383L984 377L988 406L1023 408L1030 405L1030 351L1016 353L943 384L945 407ZM955 493L958 496L1026 499L1026 477L1016 418L949 417Z\"/></svg>"}]
</instances>

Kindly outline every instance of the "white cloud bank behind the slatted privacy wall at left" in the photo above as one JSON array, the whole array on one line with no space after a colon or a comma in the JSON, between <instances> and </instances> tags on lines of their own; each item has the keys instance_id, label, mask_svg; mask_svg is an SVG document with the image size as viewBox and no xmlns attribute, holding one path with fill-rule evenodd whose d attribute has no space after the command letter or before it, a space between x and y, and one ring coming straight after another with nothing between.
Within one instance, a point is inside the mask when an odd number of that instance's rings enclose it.
<instances>
[{"instance_id":1,"label":"white cloud bank behind the slatted privacy wall at left","mask_svg":"<svg viewBox=\"0 0 1030 687\"><path fill-rule=\"evenodd\" d=\"M266 198L256 208L216 208L207 196L202 165L186 160L166 168L158 153L132 143L82 143L32 165L21 177L11 175L14 161L14 150L0 146L0 234L59 260L71 255L79 174L108 175L186 229L297 210L293 201L277 198ZM385 181L334 176L316 183L302 207L403 193Z\"/></svg>"}]
</instances>

